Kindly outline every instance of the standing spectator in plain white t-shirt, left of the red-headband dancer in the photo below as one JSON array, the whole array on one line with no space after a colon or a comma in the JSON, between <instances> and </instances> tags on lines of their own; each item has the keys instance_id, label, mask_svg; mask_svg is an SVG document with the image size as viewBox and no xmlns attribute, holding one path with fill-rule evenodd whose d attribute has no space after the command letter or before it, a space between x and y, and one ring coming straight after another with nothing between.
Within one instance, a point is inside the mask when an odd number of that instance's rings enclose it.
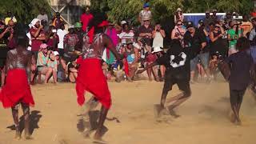
<instances>
[{"instance_id":1,"label":"standing spectator in plain white t-shirt, left of the red-headband dancer","mask_svg":"<svg viewBox=\"0 0 256 144\"><path fill-rule=\"evenodd\" d=\"M61 57L63 57L64 54L64 36L67 34L68 32L65 30L65 26L64 24L62 24L62 26L60 26L60 29L57 30L57 35L59 38L59 42L58 42L58 53Z\"/></svg>"}]
</instances>

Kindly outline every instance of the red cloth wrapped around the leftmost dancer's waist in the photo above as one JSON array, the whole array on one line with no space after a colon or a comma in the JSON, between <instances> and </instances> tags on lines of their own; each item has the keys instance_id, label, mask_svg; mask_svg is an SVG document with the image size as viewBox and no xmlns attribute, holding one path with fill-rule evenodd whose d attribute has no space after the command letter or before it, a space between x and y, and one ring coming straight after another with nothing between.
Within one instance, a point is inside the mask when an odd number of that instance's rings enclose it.
<instances>
[{"instance_id":1,"label":"red cloth wrapped around the leftmost dancer's waist","mask_svg":"<svg viewBox=\"0 0 256 144\"><path fill-rule=\"evenodd\" d=\"M0 91L0 101L4 108L15 106L18 102L34 106L30 85L26 76L26 70L8 70L6 85Z\"/></svg>"}]
</instances>

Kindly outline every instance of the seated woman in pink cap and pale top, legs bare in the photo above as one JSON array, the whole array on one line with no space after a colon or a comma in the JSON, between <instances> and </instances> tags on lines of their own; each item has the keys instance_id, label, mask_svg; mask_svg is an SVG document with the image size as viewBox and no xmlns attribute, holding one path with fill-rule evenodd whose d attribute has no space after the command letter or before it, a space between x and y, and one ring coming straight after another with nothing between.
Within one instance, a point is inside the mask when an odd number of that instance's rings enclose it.
<instances>
[{"instance_id":1,"label":"seated woman in pink cap and pale top, legs bare","mask_svg":"<svg viewBox=\"0 0 256 144\"><path fill-rule=\"evenodd\" d=\"M47 62L50 59L51 50L48 50L49 47L46 43L42 43L40 45L40 50L38 52L38 59L37 59L37 69L38 69L38 81L41 83L41 74L45 75L44 83L48 83L48 80L53 74L53 68L47 66Z\"/></svg>"}]
</instances>

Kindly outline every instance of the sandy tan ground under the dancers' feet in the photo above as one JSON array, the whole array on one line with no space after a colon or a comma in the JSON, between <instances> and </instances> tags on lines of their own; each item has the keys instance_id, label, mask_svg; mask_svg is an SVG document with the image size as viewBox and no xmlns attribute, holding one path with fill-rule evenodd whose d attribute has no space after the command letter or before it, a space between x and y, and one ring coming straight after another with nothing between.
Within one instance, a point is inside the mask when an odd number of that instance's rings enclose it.
<instances>
[{"instance_id":1,"label":"sandy tan ground under the dancers' feet","mask_svg":"<svg viewBox=\"0 0 256 144\"><path fill-rule=\"evenodd\" d=\"M176 109L182 116L166 116L164 121L156 122L153 106L160 101L162 85L148 81L109 82L113 106L108 117L117 117L120 122L106 121L109 130L103 139L117 144L255 144L256 105L250 92L246 92L242 103L242 126L234 126L228 118L226 82L192 85L192 97ZM14 140L14 130L8 128L13 125L10 109L1 107L0 144L92 143L77 129L81 108L76 102L74 84L37 85L32 90L36 102L31 108L34 140ZM178 92L174 86L168 97Z\"/></svg>"}]
</instances>

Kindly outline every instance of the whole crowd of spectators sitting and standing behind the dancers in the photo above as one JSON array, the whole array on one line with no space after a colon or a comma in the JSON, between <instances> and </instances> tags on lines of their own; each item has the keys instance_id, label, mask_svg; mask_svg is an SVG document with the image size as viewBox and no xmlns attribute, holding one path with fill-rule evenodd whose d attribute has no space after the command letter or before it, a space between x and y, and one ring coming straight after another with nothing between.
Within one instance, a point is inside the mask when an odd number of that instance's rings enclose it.
<instances>
[{"instance_id":1,"label":"whole crowd of spectators sitting and standing behind the dancers","mask_svg":"<svg viewBox=\"0 0 256 144\"><path fill-rule=\"evenodd\" d=\"M106 47L102 55L102 70L107 79L115 77L116 82L138 80L136 71L150 65L165 54L164 39L178 39L182 47L200 46L201 51L190 61L191 83L202 80L211 82L218 73L218 58L227 58L237 52L238 38L250 39L255 44L256 18L255 10L244 15L242 21L233 18L234 14L226 13L226 18L217 16L218 10L207 10L206 17L199 20L198 26L187 22L178 8L174 14L175 26L166 35L160 22L152 20L150 4L144 4L138 14L139 26L131 26L126 20L120 23L104 22L104 31L126 59L118 62L114 54ZM27 36L30 38L31 84L47 83L52 77L53 82L75 82L78 76L78 58L82 54L82 42L88 33L90 21L90 6L86 6L80 21L65 29L65 22L58 12L54 18L49 18L45 10L40 10L37 18L30 22ZM5 82L6 52L14 49L14 26L18 20L10 11L6 18L0 21L0 67L2 85ZM153 25L154 22L154 25ZM167 33L169 34L169 33ZM165 66L154 66L147 70L150 81L162 82L165 77ZM152 77L153 74L153 77Z\"/></svg>"}]
</instances>

